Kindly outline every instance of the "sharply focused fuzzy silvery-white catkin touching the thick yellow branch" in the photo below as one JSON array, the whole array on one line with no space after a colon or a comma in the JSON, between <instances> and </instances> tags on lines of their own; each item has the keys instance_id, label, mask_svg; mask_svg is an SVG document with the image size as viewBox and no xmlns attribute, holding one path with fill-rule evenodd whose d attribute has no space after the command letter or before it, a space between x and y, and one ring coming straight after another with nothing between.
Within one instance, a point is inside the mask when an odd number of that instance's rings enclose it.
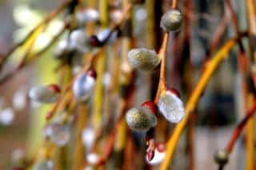
<instances>
[{"instance_id":1,"label":"sharply focused fuzzy silvery-white catkin touching the thick yellow branch","mask_svg":"<svg viewBox=\"0 0 256 170\"><path fill-rule=\"evenodd\" d=\"M175 94L166 92L159 98L158 109L167 121L178 123L185 115L183 102Z\"/></svg>"}]
</instances>

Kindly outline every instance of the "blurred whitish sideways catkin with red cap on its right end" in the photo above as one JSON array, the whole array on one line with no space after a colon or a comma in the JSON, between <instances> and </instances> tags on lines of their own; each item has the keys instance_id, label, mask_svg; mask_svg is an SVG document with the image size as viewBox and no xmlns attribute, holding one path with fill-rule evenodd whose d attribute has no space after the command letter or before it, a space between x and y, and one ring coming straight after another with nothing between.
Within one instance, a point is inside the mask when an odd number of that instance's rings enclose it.
<instances>
[{"instance_id":1,"label":"blurred whitish sideways catkin with red cap on its right end","mask_svg":"<svg viewBox=\"0 0 256 170\"><path fill-rule=\"evenodd\" d=\"M59 93L57 85L40 85L30 89L29 97L38 103L54 103Z\"/></svg>"}]
</instances>

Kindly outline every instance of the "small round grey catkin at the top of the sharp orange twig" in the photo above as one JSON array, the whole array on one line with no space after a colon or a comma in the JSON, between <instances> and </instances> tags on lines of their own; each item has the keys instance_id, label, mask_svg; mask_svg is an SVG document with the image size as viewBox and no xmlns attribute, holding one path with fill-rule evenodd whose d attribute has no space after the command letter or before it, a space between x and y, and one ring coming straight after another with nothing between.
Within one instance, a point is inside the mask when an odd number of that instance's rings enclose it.
<instances>
[{"instance_id":1,"label":"small round grey catkin at the top of the sharp orange twig","mask_svg":"<svg viewBox=\"0 0 256 170\"><path fill-rule=\"evenodd\" d=\"M166 32L179 30L182 26L182 12L178 9L168 10L162 16L160 24Z\"/></svg>"}]
</instances>

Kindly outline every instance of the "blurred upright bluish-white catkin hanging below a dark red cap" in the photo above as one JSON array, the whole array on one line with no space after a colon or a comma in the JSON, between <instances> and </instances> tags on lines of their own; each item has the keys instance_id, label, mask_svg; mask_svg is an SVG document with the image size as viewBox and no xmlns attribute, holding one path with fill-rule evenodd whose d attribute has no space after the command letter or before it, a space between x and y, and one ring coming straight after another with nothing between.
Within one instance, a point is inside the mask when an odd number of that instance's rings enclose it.
<instances>
[{"instance_id":1,"label":"blurred upright bluish-white catkin hanging below a dark red cap","mask_svg":"<svg viewBox=\"0 0 256 170\"><path fill-rule=\"evenodd\" d=\"M90 77L86 73L78 75L73 84L74 97L78 101L87 101L93 93L94 85L94 77Z\"/></svg>"}]
</instances>

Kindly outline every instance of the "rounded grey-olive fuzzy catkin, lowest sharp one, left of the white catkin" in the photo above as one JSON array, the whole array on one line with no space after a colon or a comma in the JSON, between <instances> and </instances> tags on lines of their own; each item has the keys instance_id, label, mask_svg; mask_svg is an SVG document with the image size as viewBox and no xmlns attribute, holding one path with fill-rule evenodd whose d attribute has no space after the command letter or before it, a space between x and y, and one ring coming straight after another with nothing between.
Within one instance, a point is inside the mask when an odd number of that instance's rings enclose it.
<instances>
[{"instance_id":1,"label":"rounded grey-olive fuzzy catkin, lowest sharp one, left of the white catkin","mask_svg":"<svg viewBox=\"0 0 256 170\"><path fill-rule=\"evenodd\" d=\"M146 132L157 125L158 119L145 107L136 107L126 113L126 123L134 131Z\"/></svg>"}]
</instances>

